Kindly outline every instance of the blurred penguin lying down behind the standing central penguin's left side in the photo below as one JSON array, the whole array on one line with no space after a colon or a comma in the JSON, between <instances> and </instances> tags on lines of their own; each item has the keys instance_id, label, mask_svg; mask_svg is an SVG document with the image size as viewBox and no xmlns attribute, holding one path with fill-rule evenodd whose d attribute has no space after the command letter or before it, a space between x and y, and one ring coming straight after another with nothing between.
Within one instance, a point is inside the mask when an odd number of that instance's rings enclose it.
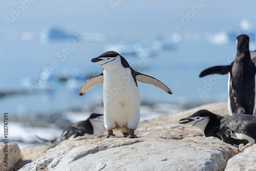
<instances>
[{"instance_id":1,"label":"blurred penguin lying down behind the standing central penguin's left side","mask_svg":"<svg viewBox=\"0 0 256 171\"><path fill-rule=\"evenodd\" d=\"M91 114L87 120L79 121L73 123L67 127L65 131L61 134L61 136L54 140L42 139L36 136L42 142L47 144L56 146L60 142L69 139L74 135L73 138L78 136L83 136L84 134L103 134L104 132L104 122L102 114Z\"/></svg>"}]
</instances>

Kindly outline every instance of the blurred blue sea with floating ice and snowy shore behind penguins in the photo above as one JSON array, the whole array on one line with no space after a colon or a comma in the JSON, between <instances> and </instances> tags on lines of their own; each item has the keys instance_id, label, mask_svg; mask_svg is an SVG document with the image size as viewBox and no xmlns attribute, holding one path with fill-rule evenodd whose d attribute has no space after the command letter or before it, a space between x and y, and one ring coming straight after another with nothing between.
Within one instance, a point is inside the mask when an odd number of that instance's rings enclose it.
<instances>
[{"instance_id":1,"label":"blurred blue sea with floating ice and snowy shore behind penguins","mask_svg":"<svg viewBox=\"0 0 256 171\"><path fill-rule=\"evenodd\" d=\"M256 49L254 1L110 2L0 1L0 126L7 112L10 140L20 147L103 113L102 84L84 96L78 91L102 72L91 59L105 51L117 51L172 90L138 82L146 120L227 100L227 75L199 78L200 72L231 63L239 34Z\"/></svg>"}]
</instances>

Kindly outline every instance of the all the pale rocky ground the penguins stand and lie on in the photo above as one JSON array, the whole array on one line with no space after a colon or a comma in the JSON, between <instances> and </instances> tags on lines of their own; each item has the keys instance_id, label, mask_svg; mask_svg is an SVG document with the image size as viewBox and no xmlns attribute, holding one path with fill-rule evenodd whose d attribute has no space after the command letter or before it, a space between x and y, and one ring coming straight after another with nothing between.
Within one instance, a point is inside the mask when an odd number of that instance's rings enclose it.
<instances>
[{"instance_id":1,"label":"all the pale rocky ground the penguins stand and lie on","mask_svg":"<svg viewBox=\"0 0 256 171\"><path fill-rule=\"evenodd\" d=\"M254 145L238 154L238 148L214 137L203 137L196 127L177 124L201 109L228 116L227 103L212 103L179 112L174 115L140 122L138 138L106 139L105 135L85 135L66 140L48 151L40 152L36 161L26 164L20 170L243 170L252 168L250 162L240 162L241 155L247 155L251 163L256 163L250 153ZM33 149L33 148L31 148ZM39 151L39 148L36 150ZM247 152L248 151L248 152ZM252 151L252 152L250 152ZM27 158L32 156L26 150ZM238 155L237 155L238 154ZM23 156L22 151L22 156ZM35 160L37 157L34 157ZM243 156L241 156L243 158ZM255 158L255 157L254 157ZM227 164L228 163L228 164ZM234 164L242 163L241 167ZM230 165L230 166L229 166ZM229 168L230 167L230 168ZM241 168L241 169L238 169Z\"/></svg>"}]
</instances>

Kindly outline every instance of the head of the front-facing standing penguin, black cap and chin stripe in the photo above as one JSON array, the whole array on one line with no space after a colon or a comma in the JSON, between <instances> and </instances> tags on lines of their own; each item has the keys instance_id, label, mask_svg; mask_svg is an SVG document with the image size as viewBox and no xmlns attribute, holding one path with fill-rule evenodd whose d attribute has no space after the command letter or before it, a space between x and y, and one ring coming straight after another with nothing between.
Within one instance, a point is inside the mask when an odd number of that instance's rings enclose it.
<instances>
[{"instance_id":1,"label":"head of the front-facing standing penguin, black cap and chin stripe","mask_svg":"<svg viewBox=\"0 0 256 171\"><path fill-rule=\"evenodd\" d=\"M91 60L96 62L106 71L114 70L121 65L121 55L115 51L108 51Z\"/></svg>"}]
</instances>

